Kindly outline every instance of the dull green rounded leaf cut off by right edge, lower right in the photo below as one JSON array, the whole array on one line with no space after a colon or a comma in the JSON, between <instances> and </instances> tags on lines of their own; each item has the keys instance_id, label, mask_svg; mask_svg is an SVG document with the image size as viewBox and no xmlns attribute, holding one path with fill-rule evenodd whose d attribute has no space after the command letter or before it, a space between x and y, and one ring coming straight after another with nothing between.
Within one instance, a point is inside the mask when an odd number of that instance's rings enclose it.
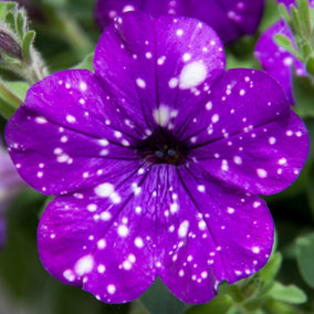
<instances>
[{"instance_id":1,"label":"dull green rounded leaf cut off by right edge, lower right","mask_svg":"<svg viewBox=\"0 0 314 314\"><path fill-rule=\"evenodd\" d=\"M296 261L303 280L314 287L314 233L296 240Z\"/></svg>"}]
</instances>

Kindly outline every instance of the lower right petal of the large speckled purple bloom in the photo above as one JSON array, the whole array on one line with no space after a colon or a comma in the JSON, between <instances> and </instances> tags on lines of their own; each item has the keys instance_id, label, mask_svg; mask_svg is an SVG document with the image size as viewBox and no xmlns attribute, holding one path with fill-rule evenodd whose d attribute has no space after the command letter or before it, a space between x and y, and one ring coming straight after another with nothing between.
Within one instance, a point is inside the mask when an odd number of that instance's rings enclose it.
<instances>
[{"instance_id":1,"label":"lower right petal of the large speckled purple bloom","mask_svg":"<svg viewBox=\"0 0 314 314\"><path fill-rule=\"evenodd\" d=\"M160 217L168 224L160 276L177 297L205 303L221 281L233 283L265 264L272 218L264 201L208 177L199 166L179 167L172 179L172 202Z\"/></svg>"}]
</instances>

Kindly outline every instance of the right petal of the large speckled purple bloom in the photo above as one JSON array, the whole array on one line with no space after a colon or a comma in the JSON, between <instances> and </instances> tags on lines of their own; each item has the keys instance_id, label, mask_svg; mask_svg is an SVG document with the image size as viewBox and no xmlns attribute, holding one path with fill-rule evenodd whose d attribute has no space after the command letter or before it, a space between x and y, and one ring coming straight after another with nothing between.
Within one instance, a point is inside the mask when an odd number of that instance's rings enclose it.
<instances>
[{"instance_id":1,"label":"right petal of the large speckled purple bloom","mask_svg":"<svg viewBox=\"0 0 314 314\"><path fill-rule=\"evenodd\" d=\"M230 70L208 101L207 113L189 117L192 161L253 193L274 193L296 179L308 153L307 132L273 78L260 71Z\"/></svg>"}]
</instances>

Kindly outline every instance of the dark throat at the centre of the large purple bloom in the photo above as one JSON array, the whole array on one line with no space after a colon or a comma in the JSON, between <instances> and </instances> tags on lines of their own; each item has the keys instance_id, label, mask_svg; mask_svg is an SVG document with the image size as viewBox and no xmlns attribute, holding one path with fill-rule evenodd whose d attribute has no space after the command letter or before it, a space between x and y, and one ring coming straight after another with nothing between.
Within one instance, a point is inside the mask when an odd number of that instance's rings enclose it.
<instances>
[{"instance_id":1,"label":"dark throat at the centre of the large purple bloom","mask_svg":"<svg viewBox=\"0 0 314 314\"><path fill-rule=\"evenodd\" d=\"M187 154L187 145L164 129L154 132L138 146L140 159L150 164L181 165Z\"/></svg>"}]
</instances>

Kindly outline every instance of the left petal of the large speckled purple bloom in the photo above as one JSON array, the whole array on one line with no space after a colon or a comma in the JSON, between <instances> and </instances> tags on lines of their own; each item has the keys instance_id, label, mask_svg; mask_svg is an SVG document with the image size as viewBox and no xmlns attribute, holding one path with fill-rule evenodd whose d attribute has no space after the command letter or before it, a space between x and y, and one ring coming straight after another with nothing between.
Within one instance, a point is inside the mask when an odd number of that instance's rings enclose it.
<instances>
[{"instance_id":1,"label":"left petal of the large speckled purple bloom","mask_svg":"<svg viewBox=\"0 0 314 314\"><path fill-rule=\"evenodd\" d=\"M11 157L31 186L43 193L73 191L137 158L130 149L136 133L108 119L106 95L88 71L56 73L29 91L6 132Z\"/></svg>"}]
</instances>

